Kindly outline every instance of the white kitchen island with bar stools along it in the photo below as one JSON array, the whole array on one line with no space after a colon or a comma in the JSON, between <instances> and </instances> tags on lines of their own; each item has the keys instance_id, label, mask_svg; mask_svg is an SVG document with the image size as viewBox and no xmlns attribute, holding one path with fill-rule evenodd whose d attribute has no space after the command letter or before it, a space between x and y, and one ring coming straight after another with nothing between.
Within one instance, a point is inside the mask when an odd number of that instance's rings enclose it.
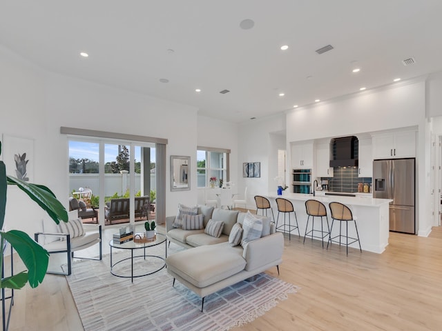
<instances>
[{"instance_id":1,"label":"white kitchen island with bar stools along it","mask_svg":"<svg viewBox=\"0 0 442 331\"><path fill-rule=\"evenodd\" d=\"M329 209L330 202L343 203L352 210L353 217L356 218L356 224L358 225L359 239L361 241L361 247L363 250L381 254L385 250L385 247L387 247L388 245L388 236L390 229L389 203L392 201L391 199L374 199L372 197L340 197L330 195L314 197L313 194L298 194L286 192L282 195L267 194L264 195L264 197L269 198L269 200L271 201L271 205L275 214L275 221L278 215L278 208L276 207L275 199L284 198L293 203L296 210L296 217L298 219L299 231L302 237L304 237L305 226L307 225L307 212L305 210L305 201L309 199L315 199L322 202L327 208L327 215L330 226L332 226L332 213ZM279 217L279 224L281 224L281 221L284 221L284 214L282 213ZM294 219L292 219L292 224L293 221ZM334 224L332 237L339 234L338 223ZM316 229L320 229L320 220L316 221L315 225L317 225L315 226ZM296 233L296 230L291 233ZM356 230L352 225L349 226L349 236L356 238ZM307 239L309 239L309 237L307 237ZM327 239L328 237L325 240ZM334 243L333 245L336 245L336 243ZM349 246L359 249L357 242L352 243ZM332 247L332 249L334 249L334 247Z\"/></svg>"}]
</instances>

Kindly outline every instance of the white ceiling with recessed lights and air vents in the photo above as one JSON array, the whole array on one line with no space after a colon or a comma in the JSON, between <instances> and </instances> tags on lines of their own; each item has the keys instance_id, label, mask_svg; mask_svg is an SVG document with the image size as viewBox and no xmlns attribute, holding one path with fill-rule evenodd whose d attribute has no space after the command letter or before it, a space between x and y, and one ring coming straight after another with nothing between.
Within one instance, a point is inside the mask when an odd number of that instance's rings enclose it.
<instances>
[{"instance_id":1,"label":"white ceiling with recessed lights and air vents","mask_svg":"<svg viewBox=\"0 0 442 331\"><path fill-rule=\"evenodd\" d=\"M441 0L1 0L0 44L53 72L240 122L442 70L441 14Z\"/></svg>"}]
</instances>

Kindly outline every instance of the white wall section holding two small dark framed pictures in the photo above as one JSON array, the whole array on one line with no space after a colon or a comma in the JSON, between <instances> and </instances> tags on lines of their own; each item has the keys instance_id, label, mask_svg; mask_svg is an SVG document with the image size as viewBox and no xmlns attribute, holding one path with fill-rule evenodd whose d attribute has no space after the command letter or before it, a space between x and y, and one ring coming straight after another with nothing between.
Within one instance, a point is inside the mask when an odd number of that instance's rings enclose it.
<instances>
[{"instance_id":1,"label":"white wall section holding two small dark framed pictures","mask_svg":"<svg viewBox=\"0 0 442 331\"><path fill-rule=\"evenodd\" d=\"M247 208L256 209L253 197L257 194L276 192L277 183L273 178L278 174L278 148L285 149L284 138L276 134L285 131L285 114L254 119L238 126L238 192L247 186ZM282 140L284 139L284 140ZM242 163L260 162L260 178L242 177Z\"/></svg>"}]
</instances>

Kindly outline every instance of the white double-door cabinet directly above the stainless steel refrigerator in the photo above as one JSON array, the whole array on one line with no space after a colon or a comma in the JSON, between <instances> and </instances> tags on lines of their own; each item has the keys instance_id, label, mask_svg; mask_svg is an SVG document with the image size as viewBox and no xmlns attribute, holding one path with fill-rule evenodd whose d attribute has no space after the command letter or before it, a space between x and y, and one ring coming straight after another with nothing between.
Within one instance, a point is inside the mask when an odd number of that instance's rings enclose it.
<instances>
[{"instance_id":1,"label":"white double-door cabinet directly above the stainless steel refrigerator","mask_svg":"<svg viewBox=\"0 0 442 331\"><path fill-rule=\"evenodd\" d=\"M373 136L373 159L416 157L416 131L401 131Z\"/></svg>"}]
</instances>

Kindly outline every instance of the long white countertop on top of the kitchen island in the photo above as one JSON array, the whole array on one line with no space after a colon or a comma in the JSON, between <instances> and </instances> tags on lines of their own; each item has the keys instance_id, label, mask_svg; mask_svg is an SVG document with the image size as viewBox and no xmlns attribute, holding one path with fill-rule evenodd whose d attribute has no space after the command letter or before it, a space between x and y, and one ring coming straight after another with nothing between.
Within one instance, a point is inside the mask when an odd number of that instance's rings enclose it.
<instances>
[{"instance_id":1,"label":"long white countertop on top of the kitchen island","mask_svg":"<svg viewBox=\"0 0 442 331\"><path fill-rule=\"evenodd\" d=\"M324 191L317 191L321 192L321 195L323 195ZM337 192L334 192L337 193ZM367 193L369 194L369 193ZM383 205L384 203L390 203L393 200L392 199L377 199L372 197L342 197L342 196L336 196L336 195L316 195L316 197L313 196L313 194L301 194L301 193L289 193L284 192L282 195L278 195L275 193L269 193L267 194L267 197L276 199L276 198L284 198L287 200L298 200L298 201L307 201L308 199L315 199L322 203L329 203L332 201L344 203L345 205L363 205L366 207L379 207Z\"/></svg>"}]
</instances>

